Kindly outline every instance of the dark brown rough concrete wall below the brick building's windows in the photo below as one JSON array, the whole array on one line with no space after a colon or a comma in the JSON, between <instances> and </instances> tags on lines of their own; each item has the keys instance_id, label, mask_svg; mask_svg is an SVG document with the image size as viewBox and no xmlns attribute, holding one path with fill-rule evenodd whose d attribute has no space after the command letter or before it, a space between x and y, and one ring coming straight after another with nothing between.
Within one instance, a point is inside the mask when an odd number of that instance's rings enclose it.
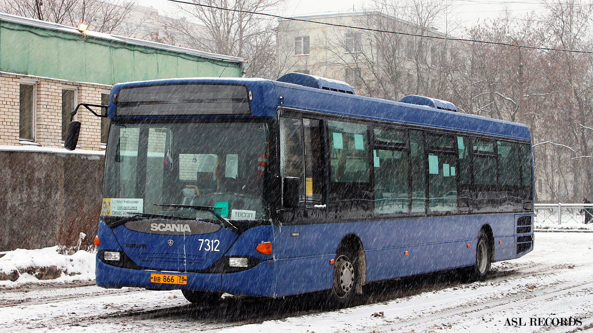
<instances>
[{"instance_id":1,"label":"dark brown rough concrete wall below the brick building's windows","mask_svg":"<svg viewBox=\"0 0 593 333\"><path fill-rule=\"evenodd\" d=\"M75 245L78 232L92 242L103 156L0 151L0 165L0 251Z\"/></svg>"}]
</instances>

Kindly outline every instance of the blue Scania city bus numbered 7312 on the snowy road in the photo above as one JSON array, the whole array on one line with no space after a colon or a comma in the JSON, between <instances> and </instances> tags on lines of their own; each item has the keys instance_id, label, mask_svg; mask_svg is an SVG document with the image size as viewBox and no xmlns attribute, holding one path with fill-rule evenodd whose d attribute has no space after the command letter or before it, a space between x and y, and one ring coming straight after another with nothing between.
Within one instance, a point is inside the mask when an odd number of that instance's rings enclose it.
<instances>
[{"instance_id":1,"label":"blue Scania city bus numbered 7312 on the snowy road","mask_svg":"<svg viewBox=\"0 0 593 333\"><path fill-rule=\"evenodd\" d=\"M533 249L522 124L302 73L128 82L102 107L97 286L190 302L326 290L348 306L374 281L453 268L483 280Z\"/></svg>"}]
</instances>

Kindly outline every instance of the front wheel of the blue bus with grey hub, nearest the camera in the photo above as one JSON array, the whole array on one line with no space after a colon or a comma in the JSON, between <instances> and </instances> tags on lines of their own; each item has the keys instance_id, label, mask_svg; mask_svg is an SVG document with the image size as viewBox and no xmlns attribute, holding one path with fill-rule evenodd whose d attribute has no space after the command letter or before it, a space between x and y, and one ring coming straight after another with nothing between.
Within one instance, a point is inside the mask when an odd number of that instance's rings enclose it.
<instances>
[{"instance_id":1,"label":"front wheel of the blue bus with grey hub, nearest the camera","mask_svg":"<svg viewBox=\"0 0 593 333\"><path fill-rule=\"evenodd\" d=\"M337 252L334 263L333 287L330 291L330 306L347 308L356 298L356 284L359 283L358 255L350 249Z\"/></svg>"}]
</instances>

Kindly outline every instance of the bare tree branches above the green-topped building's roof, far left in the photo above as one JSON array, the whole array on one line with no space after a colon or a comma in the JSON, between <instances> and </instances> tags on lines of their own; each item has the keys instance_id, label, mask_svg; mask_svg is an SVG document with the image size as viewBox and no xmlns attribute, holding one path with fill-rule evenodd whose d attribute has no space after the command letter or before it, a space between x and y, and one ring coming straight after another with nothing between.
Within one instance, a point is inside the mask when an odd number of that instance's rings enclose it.
<instances>
[{"instance_id":1,"label":"bare tree branches above the green-topped building's roof, far left","mask_svg":"<svg viewBox=\"0 0 593 333\"><path fill-rule=\"evenodd\" d=\"M126 34L120 25L133 5L125 0L14 0L0 2L0 11L71 27L84 22L94 31Z\"/></svg>"}]
</instances>

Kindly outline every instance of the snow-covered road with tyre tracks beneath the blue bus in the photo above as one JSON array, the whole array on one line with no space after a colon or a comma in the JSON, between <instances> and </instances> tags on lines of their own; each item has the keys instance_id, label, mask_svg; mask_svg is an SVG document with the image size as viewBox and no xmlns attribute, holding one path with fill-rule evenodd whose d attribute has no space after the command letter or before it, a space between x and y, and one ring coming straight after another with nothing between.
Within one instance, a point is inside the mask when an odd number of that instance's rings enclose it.
<instances>
[{"instance_id":1,"label":"snow-covered road with tyre tracks beneath the blue bus","mask_svg":"<svg viewBox=\"0 0 593 333\"><path fill-rule=\"evenodd\" d=\"M371 284L361 305L336 311L318 295L197 306L179 291L0 289L0 332L572 332L593 328L592 247L593 233L536 233L533 252L493 264L484 282L449 272ZM573 325L550 325L563 321Z\"/></svg>"}]
</instances>

